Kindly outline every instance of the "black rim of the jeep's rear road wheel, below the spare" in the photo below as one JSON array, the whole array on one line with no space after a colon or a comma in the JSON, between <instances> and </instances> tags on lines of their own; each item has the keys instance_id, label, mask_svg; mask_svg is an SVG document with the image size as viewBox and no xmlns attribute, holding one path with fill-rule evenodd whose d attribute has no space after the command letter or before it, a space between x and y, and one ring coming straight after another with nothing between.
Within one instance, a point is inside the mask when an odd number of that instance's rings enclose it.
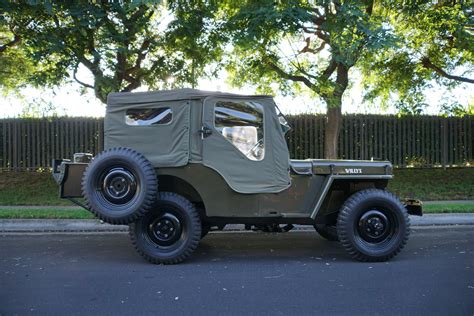
<instances>
[{"instance_id":1,"label":"black rim of the jeep's rear road wheel, below the spare","mask_svg":"<svg viewBox=\"0 0 474 316\"><path fill-rule=\"evenodd\" d=\"M181 238L182 225L178 217L164 213L148 226L148 234L160 246L170 246Z\"/></svg>"}]
</instances>

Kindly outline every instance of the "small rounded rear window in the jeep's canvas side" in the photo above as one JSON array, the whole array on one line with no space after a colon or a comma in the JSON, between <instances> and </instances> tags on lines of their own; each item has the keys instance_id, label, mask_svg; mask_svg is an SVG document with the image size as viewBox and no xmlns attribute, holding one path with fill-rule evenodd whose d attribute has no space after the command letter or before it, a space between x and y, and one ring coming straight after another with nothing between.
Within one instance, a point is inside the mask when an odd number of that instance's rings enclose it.
<instances>
[{"instance_id":1,"label":"small rounded rear window in the jeep's canvas side","mask_svg":"<svg viewBox=\"0 0 474 316\"><path fill-rule=\"evenodd\" d=\"M125 113L125 123L133 126L165 125L173 119L170 108L130 109Z\"/></svg>"}]
</instances>

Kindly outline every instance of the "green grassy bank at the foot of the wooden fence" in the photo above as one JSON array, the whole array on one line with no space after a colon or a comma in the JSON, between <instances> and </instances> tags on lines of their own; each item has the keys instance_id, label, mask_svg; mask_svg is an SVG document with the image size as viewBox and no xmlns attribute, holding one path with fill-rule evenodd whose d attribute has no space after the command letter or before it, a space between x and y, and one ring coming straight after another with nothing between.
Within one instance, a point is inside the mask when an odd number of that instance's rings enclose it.
<instances>
[{"instance_id":1,"label":"green grassy bank at the foot of the wooden fence","mask_svg":"<svg viewBox=\"0 0 474 316\"><path fill-rule=\"evenodd\" d=\"M395 169L388 190L400 198L474 199L474 168ZM72 205L47 172L0 172L0 205Z\"/></svg>"}]
</instances>

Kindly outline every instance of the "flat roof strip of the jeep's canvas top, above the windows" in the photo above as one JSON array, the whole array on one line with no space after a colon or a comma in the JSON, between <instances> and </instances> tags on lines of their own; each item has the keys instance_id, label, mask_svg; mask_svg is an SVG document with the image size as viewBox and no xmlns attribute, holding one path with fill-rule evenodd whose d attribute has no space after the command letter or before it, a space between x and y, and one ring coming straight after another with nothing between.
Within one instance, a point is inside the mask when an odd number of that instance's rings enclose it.
<instances>
[{"instance_id":1,"label":"flat roof strip of the jeep's canvas top, above the windows","mask_svg":"<svg viewBox=\"0 0 474 316\"><path fill-rule=\"evenodd\" d=\"M107 106L116 107L127 104L140 104L149 102L162 101L179 101L179 100L193 100L204 99L210 96L217 97L232 97L232 98L271 98L268 95L243 95L226 93L219 91L205 91L197 89L175 89L162 91L146 91L146 92L118 92L110 93L107 97Z\"/></svg>"}]
</instances>

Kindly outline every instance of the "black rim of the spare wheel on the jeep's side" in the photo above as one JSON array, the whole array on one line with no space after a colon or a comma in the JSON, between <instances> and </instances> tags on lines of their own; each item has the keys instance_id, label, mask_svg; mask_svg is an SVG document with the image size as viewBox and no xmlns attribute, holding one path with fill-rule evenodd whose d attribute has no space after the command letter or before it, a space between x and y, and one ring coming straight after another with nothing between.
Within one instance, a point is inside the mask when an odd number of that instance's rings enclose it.
<instances>
[{"instance_id":1,"label":"black rim of the spare wheel on the jeep's side","mask_svg":"<svg viewBox=\"0 0 474 316\"><path fill-rule=\"evenodd\" d=\"M132 200L137 192L136 177L126 168L107 170L100 178L102 195L110 203L125 204Z\"/></svg>"}]
</instances>

